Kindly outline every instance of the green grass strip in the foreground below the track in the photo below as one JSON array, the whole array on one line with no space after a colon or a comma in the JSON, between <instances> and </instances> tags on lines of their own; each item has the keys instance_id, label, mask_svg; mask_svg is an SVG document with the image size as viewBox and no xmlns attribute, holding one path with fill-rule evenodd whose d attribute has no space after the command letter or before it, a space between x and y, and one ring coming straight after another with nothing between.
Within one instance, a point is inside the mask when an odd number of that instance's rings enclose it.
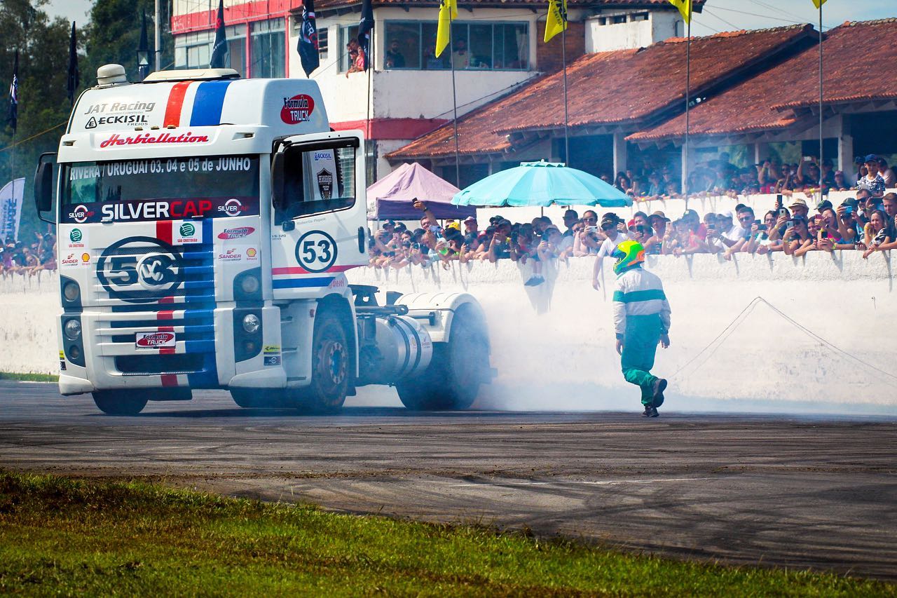
<instances>
[{"instance_id":1,"label":"green grass strip in the foreground below the track","mask_svg":"<svg viewBox=\"0 0 897 598\"><path fill-rule=\"evenodd\" d=\"M10 593L893 596L895 586L0 472L0 594Z\"/></svg>"}]
</instances>

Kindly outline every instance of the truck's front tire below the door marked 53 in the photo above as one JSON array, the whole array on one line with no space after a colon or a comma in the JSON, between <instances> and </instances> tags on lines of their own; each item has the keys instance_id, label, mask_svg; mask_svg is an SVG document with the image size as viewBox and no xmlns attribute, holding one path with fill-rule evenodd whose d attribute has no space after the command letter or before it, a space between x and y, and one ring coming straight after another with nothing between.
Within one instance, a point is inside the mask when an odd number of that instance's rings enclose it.
<instances>
[{"instance_id":1,"label":"truck's front tire below the door marked 53","mask_svg":"<svg viewBox=\"0 0 897 598\"><path fill-rule=\"evenodd\" d=\"M343 322L335 310L318 314L311 341L311 383L298 392L298 407L334 413L349 392L352 356Z\"/></svg>"}]
</instances>

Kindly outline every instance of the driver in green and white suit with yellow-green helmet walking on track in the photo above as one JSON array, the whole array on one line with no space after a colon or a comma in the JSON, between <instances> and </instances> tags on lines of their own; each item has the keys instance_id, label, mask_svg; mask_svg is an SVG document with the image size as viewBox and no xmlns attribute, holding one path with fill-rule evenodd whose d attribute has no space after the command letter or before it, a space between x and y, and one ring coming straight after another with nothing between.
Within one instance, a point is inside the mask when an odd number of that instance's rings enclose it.
<instances>
[{"instance_id":1,"label":"driver in green and white suit with yellow-green helmet walking on track","mask_svg":"<svg viewBox=\"0 0 897 598\"><path fill-rule=\"evenodd\" d=\"M666 380L651 374L658 343L670 346L670 304L657 275L642 268L645 248L637 241L617 245L614 291L614 331L623 378L641 389L646 418L657 418L664 402Z\"/></svg>"}]
</instances>

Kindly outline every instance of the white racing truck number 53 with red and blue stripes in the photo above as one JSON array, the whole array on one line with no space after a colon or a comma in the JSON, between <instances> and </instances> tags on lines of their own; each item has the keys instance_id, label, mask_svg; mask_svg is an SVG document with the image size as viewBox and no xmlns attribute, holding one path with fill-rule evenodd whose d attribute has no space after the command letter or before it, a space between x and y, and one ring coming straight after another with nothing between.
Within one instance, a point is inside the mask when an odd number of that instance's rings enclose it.
<instances>
[{"instance_id":1,"label":"white racing truck number 53 with red and blue stripes","mask_svg":"<svg viewBox=\"0 0 897 598\"><path fill-rule=\"evenodd\" d=\"M59 391L110 414L194 389L327 412L365 384L469 407L492 373L475 299L347 283L368 262L365 172L312 81L101 67L35 173L58 223Z\"/></svg>"}]
</instances>

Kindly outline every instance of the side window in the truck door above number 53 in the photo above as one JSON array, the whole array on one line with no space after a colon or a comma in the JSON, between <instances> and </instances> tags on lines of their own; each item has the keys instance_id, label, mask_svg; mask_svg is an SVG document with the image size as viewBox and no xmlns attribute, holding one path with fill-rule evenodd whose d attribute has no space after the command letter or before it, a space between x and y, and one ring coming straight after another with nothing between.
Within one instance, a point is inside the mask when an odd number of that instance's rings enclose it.
<instances>
[{"instance_id":1,"label":"side window in the truck door above number 53","mask_svg":"<svg viewBox=\"0 0 897 598\"><path fill-rule=\"evenodd\" d=\"M353 207L357 151L349 142L284 150L284 205L275 210L274 222Z\"/></svg>"}]
</instances>

